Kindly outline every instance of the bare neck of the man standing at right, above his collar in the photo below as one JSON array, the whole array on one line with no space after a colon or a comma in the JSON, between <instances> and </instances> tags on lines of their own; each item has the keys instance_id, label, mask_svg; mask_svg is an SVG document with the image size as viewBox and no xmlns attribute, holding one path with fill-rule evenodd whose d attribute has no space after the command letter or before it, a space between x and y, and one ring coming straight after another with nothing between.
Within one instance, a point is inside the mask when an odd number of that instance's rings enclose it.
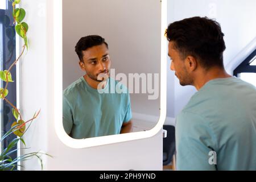
<instances>
[{"instance_id":1,"label":"bare neck of the man standing at right, above his collar","mask_svg":"<svg viewBox=\"0 0 256 182\"><path fill-rule=\"evenodd\" d=\"M217 78L228 78L232 77L229 75L224 68L213 67L210 68L208 71L202 70L195 78L193 86L199 90L203 87L208 81L214 80Z\"/></svg>"}]
</instances>

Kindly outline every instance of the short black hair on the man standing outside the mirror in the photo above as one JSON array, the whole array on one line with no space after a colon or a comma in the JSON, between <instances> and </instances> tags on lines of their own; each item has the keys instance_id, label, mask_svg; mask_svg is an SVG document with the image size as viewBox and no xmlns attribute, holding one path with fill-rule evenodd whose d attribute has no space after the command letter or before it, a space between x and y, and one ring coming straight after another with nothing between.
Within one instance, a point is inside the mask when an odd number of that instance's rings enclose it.
<instances>
[{"instance_id":1,"label":"short black hair on the man standing outside the mirror","mask_svg":"<svg viewBox=\"0 0 256 182\"><path fill-rule=\"evenodd\" d=\"M224 34L215 20L195 16L176 21L169 24L166 36L169 42L174 42L174 48L183 59L192 55L206 69L213 66L224 67Z\"/></svg>"}]
</instances>

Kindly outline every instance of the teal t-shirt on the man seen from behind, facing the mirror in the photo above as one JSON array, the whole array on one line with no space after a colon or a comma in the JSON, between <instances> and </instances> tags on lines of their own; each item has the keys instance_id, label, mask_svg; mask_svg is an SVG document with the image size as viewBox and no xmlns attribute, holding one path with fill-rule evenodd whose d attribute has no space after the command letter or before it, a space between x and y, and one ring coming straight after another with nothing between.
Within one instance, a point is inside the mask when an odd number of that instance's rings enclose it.
<instances>
[{"instance_id":1,"label":"teal t-shirt on the man seen from behind, facing the mirror","mask_svg":"<svg viewBox=\"0 0 256 182\"><path fill-rule=\"evenodd\" d=\"M207 82L177 115L176 152L178 170L256 170L255 86Z\"/></svg>"}]
</instances>

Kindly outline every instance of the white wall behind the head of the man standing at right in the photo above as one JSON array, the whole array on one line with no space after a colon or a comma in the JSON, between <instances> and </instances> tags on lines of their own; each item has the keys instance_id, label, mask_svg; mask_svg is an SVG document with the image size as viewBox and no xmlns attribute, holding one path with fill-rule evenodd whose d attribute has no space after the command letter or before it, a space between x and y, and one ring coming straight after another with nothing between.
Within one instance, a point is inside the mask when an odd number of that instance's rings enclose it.
<instances>
[{"instance_id":1,"label":"white wall behind the head of the man standing at right","mask_svg":"<svg viewBox=\"0 0 256 182\"><path fill-rule=\"evenodd\" d=\"M255 0L168 0L168 22L172 23L192 16L215 18L225 34L224 65L226 67L229 63L232 64L238 53L241 53L242 49L256 37L255 7ZM170 80L167 88L167 115L176 117L196 89L192 86L180 86L179 80L169 68L167 74L167 81Z\"/></svg>"}]
</instances>

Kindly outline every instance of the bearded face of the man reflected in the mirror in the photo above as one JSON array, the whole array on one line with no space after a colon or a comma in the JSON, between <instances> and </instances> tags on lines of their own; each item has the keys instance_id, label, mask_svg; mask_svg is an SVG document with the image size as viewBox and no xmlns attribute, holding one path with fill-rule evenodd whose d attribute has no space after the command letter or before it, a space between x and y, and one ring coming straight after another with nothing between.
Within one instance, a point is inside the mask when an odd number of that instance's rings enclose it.
<instances>
[{"instance_id":1,"label":"bearded face of the man reflected in the mirror","mask_svg":"<svg viewBox=\"0 0 256 182\"><path fill-rule=\"evenodd\" d=\"M103 81L102 78L109 77L110 57L109 50L105 44L93 46L82 51L82 61L79 62L80 68L86 72L92 80Z\"/></svg>"}]
</instances>

